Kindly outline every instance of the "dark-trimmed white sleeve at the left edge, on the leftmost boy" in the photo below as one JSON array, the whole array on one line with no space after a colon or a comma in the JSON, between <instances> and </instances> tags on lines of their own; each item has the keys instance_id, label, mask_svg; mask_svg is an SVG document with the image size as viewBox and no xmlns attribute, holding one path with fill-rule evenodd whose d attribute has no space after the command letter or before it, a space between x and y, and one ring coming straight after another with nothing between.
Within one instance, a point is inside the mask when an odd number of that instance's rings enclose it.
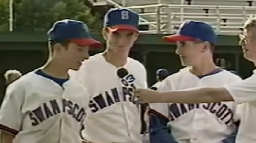
<instances>
[{"instance_id":1,"label":"dark-trimmed white sleeve at the left edge, on the leftmost boy","mask_svg":"<svg viewBox=\"0 0 256 143\"><path fill-rule=\"evenodd\" d=\"M20 82L15 81L6 89L6 94L0 109L0 130L17 135L21 129L22 102L25 89Z\"/></svg>"}]
</instances>

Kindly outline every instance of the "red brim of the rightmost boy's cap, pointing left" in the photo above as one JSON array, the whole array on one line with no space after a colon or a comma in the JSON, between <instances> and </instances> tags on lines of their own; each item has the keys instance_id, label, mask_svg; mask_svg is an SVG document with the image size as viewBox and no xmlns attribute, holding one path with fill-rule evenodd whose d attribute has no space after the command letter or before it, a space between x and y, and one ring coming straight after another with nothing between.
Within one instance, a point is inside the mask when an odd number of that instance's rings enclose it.
<instances>
[{"instance_id":1,"label":"red brim of the rightmost boy's cap, pointing left","mask_svg":"<svg viewBox=\"0 0 256 143\"><path fill-rule=\"evenodd\" d=\"M184 35L179 35L179 34L175 34L175 35L170 35L170 36L164 36L163 40L166 42L185 42L185 41L195 41L196 38L194 37L190 37L190 36L184 36Z\"/></svg>"}]
</instances>

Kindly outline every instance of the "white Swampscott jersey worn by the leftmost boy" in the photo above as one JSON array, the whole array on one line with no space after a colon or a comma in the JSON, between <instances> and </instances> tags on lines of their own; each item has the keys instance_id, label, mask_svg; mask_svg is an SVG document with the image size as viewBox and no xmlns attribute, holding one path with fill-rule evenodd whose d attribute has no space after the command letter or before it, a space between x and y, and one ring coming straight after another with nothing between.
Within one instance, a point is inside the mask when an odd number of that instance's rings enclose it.
<instances>
[{"instance_id":1,"label":"white Swampscott jersey worn by the leftmost boy","mask_svg":"<svg viewBox=\"0 0 256 143\"><path fill-rule=\"evenodd\" d=\"M7 87L0 129L16 135L16 143L79 143L86 95L75 80L61 86L37 70L29 72Z\"/></svg>"}]
</instances>

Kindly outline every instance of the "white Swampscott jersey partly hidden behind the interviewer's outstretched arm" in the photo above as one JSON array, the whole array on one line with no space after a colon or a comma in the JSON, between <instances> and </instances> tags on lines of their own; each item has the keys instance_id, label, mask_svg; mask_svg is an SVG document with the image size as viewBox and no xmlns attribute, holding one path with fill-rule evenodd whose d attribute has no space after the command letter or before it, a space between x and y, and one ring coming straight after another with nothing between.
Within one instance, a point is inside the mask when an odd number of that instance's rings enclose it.
<instances>
[{"instance_id":1,"label":"white Swampscott jersey partly hidden behind the interviewer's outstretched arm","mask_svg":"<svg viewBox=\"0 0 256 143\"><path fill-rule=\"evenodd\" d=\"M177 91L197 87L220 87L241 79L226 70L198 77L189 71L190 67L168 76L158 90ZM151 109L167 117L172 135L179 143L220 143L235 129L239 120L234 102L180 104L154 103Z\"/></svg>"}]
</instances>

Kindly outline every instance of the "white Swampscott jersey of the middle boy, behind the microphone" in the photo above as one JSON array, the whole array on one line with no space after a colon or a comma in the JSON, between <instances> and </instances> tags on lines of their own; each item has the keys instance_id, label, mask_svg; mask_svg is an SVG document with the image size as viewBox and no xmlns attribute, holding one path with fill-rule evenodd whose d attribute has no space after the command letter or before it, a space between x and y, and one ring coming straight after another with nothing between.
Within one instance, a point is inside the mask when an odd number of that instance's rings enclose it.
<instances>
[{"instance_id":1,"label":"white Swampscott jersey of the middle boy, behind the microphone","mask_svg":"<svg viewBox=\"0 0 256 143\"><path fill-rule=\"evenodd\" d=\"M136 87L147 86L146 70L141 63L128 58L123 68L135 77ZM71 72L87 88L90 95L83 137L91 142L141 141L139 109L131 102L134 89L121 83L117 70L100 53L86 60L78 72Z\"/></svg>"}]
</instances>

